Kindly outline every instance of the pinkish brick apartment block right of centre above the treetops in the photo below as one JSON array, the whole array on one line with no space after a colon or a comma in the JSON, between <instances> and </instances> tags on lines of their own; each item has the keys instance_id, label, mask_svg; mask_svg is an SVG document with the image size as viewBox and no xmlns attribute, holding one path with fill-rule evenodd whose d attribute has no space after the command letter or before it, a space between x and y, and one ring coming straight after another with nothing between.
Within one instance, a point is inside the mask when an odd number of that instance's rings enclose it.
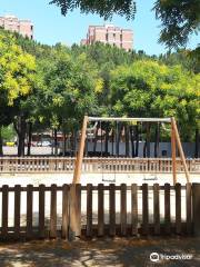
<instances>
[{"instance_id":1,"label":"pinkish brick apartment block right of centre above the treetops","mask_svg":"<svg viewBox=\"0 0 200 267\"><path fill-rule=\"evenodd\" d=\"M109 43L127 51L133 47L132 30L121 29L113 24L89 26L87 39L81 40L81 44L92 44L97 41Z\"/></svg>"}]
</instances>

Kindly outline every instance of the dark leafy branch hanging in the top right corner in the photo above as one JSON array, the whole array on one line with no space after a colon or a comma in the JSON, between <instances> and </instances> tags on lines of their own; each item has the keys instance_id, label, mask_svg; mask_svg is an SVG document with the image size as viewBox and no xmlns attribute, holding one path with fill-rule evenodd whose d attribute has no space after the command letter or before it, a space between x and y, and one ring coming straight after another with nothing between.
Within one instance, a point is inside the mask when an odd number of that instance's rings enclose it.
<instances>
[{"instance_id":1,"label":"dark leafy branch hanging in the top right corner","mask_svg":"<svg viewBox=\"0 0 200 267\"><path fill-rule=\"evenodd\" d=\"M189 36L200 29L199 0L158 0L154 10L162 21L160 41L169 48L186 46Z\"/></svg>"}]
</instances>

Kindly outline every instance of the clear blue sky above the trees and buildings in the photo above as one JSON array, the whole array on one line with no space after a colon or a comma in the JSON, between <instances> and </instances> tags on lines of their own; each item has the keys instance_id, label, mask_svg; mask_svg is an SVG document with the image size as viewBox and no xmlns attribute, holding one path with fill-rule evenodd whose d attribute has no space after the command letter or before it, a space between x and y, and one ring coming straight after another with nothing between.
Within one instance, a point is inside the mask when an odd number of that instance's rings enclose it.
<instances>
[{"instance_id":1,"label":"clear blue sky above the trees and buildings","mask_svg":"<svg viewBox=\"0 0 200 267\"><path fill-rule=\"evenodd\" d=\"M69 46L74 42L79 43L86 37L89 24L104 23L99 16L81 14L79 10L63 17L58 7L48 4L49 1L0 0L0 16L9 13L16 14L20 19L31 19L34 24L34 39L48 44L57 42ZM127 21L126 18L114 16L111 22L133 30L133 48L136 50L144 50L149 55L159 55L166 52L166 48L158 43L160 21L154 19L154 13L151 11L153 2L154 0L138 0L137 14L133 21ZM188 47L193 48L199 42L199 37L192 36Z\"/></svg>"}]
</instances>

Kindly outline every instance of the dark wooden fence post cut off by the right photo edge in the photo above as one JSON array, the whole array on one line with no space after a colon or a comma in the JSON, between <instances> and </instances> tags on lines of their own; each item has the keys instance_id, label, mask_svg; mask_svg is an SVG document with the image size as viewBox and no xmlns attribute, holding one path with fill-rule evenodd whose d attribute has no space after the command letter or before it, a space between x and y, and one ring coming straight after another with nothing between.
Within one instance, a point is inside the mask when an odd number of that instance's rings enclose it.
<instances>
[{"instance_id":1,"label":"dark wooden fence post cut off by the right photo edge","mask_svg":"<svg viewBox=\"0 0 200 267\"><path fill-rule=\"evenodd\" d=\"M193 234L200 236L200 184L192 184Z\"/></svg>"}]
</instances>

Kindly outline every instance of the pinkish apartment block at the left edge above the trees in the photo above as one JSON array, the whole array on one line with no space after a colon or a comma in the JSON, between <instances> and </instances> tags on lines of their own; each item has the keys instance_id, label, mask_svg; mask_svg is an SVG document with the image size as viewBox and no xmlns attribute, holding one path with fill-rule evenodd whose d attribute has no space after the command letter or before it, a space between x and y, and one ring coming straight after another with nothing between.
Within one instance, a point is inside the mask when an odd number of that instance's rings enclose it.
<instances>
[{"instance_id":1,"label":"pinkish apartment block at the left edge above the trees","mask_svg":"<svg viewBox=\"0 0 200 267\"><path fill-rule=\"evenodd\" d=\"M23 37L33 39L33 24L30 20L19 20L14 16L0 17L0 27L4 30L17 31Z\"/></svg>"}]
</instances>

